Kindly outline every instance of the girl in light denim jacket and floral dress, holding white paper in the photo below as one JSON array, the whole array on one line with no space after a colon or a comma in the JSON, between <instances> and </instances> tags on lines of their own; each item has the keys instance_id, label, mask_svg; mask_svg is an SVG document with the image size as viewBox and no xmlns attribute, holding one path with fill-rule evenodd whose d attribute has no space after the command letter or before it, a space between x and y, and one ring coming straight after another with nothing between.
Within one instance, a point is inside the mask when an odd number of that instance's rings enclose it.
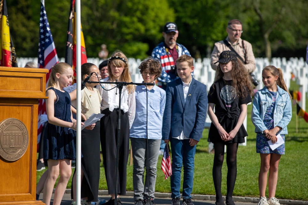
<instances>
[{"instance_id":1,"label":"girl in light denim jacket and floral dress, holding white paper","mask_svg":"<svg viewBox=\"0 0 308 205\"><path fill-rule=\"evenodd\" d=\"M267 141L276 143L278 134L285 140L285 134L288 134L287 125L292 117L291 95L279 68L272 65L264 67L262 81L265 86L255 94L251 112L251 120L257 133L257 153L260 153L261 157L258 205L280 205L279 200L275 198L275 192L278 164L281 155L285 154L285 144L272 150ZM269 200L265 197L268 171Z\"/></svg>"}]
</instances>

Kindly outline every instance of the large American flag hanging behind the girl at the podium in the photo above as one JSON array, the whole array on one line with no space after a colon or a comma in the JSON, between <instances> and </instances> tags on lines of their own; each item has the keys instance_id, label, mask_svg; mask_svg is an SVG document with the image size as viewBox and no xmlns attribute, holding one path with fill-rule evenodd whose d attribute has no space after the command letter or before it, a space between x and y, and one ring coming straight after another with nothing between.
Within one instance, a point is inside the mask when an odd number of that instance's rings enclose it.
<instances>
[{"instance_id":1,"label":"large American flag hanging behind the girl at the podium","mask_svg":"<svg viewBox=\"0 0 308 205\"><path fill-rule=\"evenodd\" d=\"M46 68L49 73L46 75L46 86L49 79L51 67L59 63L57 51L54 40L52 39L49 23L45 11L44 3L41 0L41 13L39 18L39 53L38 53L38 67ZM38 116L38 142L41 137L43 123L40 121L40 116L46 114L45 101L39 100L39 116Z\"/></svg>"}]
</instances>

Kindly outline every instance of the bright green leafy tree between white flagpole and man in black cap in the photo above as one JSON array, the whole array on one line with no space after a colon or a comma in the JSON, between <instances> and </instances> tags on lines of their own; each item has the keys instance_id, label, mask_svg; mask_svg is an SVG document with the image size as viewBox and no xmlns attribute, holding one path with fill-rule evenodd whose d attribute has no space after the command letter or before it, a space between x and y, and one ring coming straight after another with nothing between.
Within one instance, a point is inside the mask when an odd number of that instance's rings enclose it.
<instances>
[{"instance_id":1,"label":"bright green leafy tree between white flagpole and man in black cap","mask_svg":"<svg viewBox=\"0 0 308 205\"><path fill-rule=\"evenodd\" d=\"M149 43L161 38L161 28L174 12L166 0L92 0L82 4L87 54L97 57L102 43L109 53L122 50L128 57L145 58Z\"/></svg>"}]
</instances>

